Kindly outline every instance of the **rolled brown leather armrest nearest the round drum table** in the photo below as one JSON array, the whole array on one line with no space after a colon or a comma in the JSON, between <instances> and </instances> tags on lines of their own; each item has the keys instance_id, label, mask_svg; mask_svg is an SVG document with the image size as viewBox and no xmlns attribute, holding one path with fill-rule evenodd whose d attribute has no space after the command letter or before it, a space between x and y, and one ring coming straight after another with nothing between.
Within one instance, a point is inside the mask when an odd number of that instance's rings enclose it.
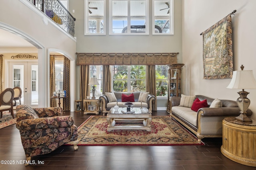
<instances>
[{"instance_id":1,"label":"rolled brown leather armrest nearest the round drum table","mask_svg":"<svg viewBox=\"0 0 256 170\"><path fill-rule=\"evenodd\" d=\"M202 116L238 116L240 115L239 107L220 107L220 108L210 108L204 107L198 110L198 114ZM252 115L252 111L247 109L247 116Z\"/></svg>"}]
</instances>

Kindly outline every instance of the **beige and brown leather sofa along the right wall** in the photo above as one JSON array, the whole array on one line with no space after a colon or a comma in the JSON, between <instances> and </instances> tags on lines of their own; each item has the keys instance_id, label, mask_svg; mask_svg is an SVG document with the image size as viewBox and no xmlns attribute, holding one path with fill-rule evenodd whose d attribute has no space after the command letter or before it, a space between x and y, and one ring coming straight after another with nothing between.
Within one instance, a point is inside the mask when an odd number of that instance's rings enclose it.
<instances>
[{"instance_id":1,"label":"beige and brown leather sofa along the right wall","mask_svg":"<svg viewBox=\"0 0 256 170\"><path fill-rule=\"evenodd\" d=\"M185 97L185 98L184 98ZM193 98L192 105L196 98L200 101L207 101L206 107L201 107L198 111L191 109L188 98ZM188 128L198 138L198 142L204 137L222 137L222 120L225 117L235 117L240 115L240 109L233 100L219 100L219 105L214 106L218 99L208 98L202 95L170 97L170 116L179 123ZM186 106L185 106L186 105ZM250 117L252 111L247 110L247 115Z\"/></svg>"}]
</instances>

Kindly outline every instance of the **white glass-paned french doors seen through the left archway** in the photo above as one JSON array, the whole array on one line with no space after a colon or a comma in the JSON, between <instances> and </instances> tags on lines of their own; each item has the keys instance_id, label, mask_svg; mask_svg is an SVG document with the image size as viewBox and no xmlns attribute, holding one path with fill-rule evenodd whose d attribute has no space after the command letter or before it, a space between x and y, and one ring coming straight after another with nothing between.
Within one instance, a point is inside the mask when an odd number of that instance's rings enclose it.
<instances>
[{"instance_id":1,"label":"white glass-paned french doors seen through the left archway","mask_svg":"<svg viewBox=\"0 0 256 170\"><path fill-rule=\"evenodd\" d=\"M38 107L38 63L10 62L9 68L9 86L22 89L21 103Z\"/></svg>"}]
</instances>

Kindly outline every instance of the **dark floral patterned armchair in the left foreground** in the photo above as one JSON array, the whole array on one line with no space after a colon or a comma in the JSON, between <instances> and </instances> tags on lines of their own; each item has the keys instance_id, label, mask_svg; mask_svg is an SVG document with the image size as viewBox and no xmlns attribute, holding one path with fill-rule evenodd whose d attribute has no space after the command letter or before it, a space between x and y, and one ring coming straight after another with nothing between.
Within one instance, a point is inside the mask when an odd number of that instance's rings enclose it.
<instances>
[{"instance_id":1,"label":"dark floral patterned armchair in the left foreground","mask_svg":"<svg viewBox=\"0 0 256 170\"><path fill-rule=\"evenodd\" d=\"M78 133L73 117L61 116L62 112L61 107L16 107L16 127L20 131L27 160L31 160L31 156L52 152L70 141L74 143L74 150L78 149Z\"/></svg>"}]
</instances>

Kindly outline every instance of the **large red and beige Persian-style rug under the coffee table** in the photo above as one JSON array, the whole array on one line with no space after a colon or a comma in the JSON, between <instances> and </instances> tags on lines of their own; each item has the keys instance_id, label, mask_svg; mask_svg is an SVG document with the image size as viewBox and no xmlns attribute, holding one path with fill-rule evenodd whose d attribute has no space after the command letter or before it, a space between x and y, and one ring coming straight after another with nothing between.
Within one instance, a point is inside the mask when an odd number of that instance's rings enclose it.
<instances>
[{"instance_id":1,"label":"large red and beige Persian-style rug under the coffee table","mask_svg":"<svg viewBox=\"0 0 256 170\"><path fill-rule=\"evenodd\" d=\"M116 123L116 126L120 123ZM122 124L123 125L123 124ZM204 145L169 116L152 116L151 132L145 130L107 131L106 116L91 116L78 127L78 145Z\"/></svg>"}]
</instances>

